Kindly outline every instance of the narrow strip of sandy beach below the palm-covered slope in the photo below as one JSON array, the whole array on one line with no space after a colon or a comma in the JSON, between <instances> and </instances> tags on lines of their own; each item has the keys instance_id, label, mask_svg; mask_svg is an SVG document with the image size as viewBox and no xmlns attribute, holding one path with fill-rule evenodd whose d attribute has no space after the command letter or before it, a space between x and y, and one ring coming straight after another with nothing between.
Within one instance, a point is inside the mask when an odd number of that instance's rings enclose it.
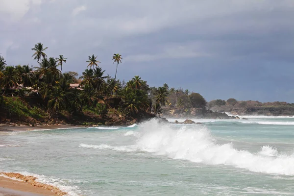
<instances>
[{"instance_id":1,"label":"narrow strip of sandy beach below the palm-covered slope","mask_svg":"<svg viewBox=\"0 0 294 196\"><path fill-rule=\"evenodd\" d=\"M85 126L81 125L65 125L65 124L54 124L54 125L11 125L0 123L0 132L18 132L18 131L35 131L35 130L49 130L49 129L66 129L66 128L81 128Z\"/></svg>"}]
</instances>

